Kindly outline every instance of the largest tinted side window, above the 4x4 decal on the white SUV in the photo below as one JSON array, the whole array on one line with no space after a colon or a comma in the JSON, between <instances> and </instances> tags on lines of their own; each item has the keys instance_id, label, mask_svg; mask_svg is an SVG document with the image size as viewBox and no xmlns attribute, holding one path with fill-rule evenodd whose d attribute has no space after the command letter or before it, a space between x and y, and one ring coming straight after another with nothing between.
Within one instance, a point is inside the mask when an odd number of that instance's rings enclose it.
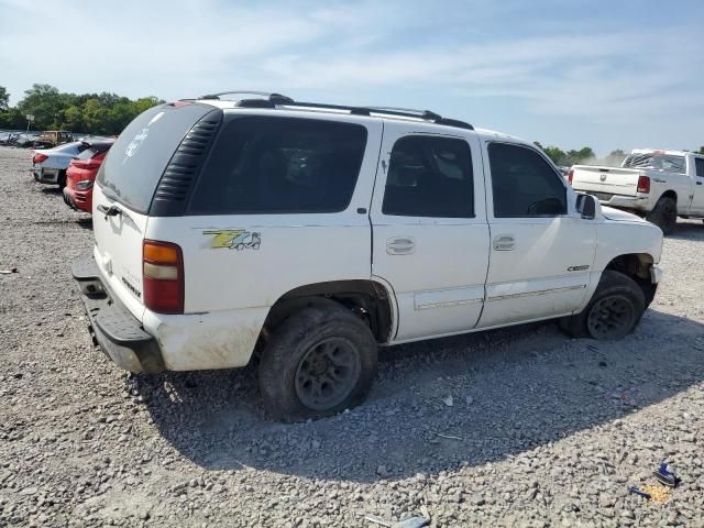
<instances>
[{"instance_id":1,"label":"largest tinted side window, above the 4x4 decal on the white SUV","mask_svg":"<svg viewBox=\"0 0 704 528\"><path fill-rule=\"evenodd\" d=\"M339 212L348 208L366 128L235 117L220 133L190 201L195 215Z\"/></svg>"}]
</instances>

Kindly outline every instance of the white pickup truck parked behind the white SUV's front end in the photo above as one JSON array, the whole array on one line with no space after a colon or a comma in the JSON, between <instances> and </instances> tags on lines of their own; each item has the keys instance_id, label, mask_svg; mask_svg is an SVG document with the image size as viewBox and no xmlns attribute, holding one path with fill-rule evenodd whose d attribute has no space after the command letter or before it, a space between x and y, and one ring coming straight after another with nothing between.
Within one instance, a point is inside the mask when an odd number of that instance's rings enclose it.
<instances>
[{"instance_id":1,"label":"white pickup truck parked behind the white SUV's front end","mask_svg":"<svg viewBox=\"0 0 704 528\"><path fill-rule=\"evenodd\" d=\"M704 218L704 155L684 151L634 150L620 167L574 165L574 190L609 207L645 217L672 232L678 216Z\"/></svg>"}]
</instances>

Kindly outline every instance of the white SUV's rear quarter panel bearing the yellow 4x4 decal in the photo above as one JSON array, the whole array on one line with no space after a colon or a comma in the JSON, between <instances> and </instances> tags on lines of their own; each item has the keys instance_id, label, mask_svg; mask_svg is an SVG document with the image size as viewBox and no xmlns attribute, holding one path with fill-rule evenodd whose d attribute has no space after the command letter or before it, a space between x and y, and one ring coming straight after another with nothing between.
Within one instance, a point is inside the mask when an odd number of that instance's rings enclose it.
<instances>
[{"instance_id":1,"label":"white SUV's rear quarter panel bearing the yellow 4x4 decal","mask_svg":"<svg viewBox=\"0 0 704 528\"><path fill-rule=\"evenodd\" d=\"M174 242L184 255L185 315L146 310L143 319L167 369L242 366L283 295L308 284L371 278L367 211L382 123L365 125L364 160L342 212L150 218L145 238Z\"/></svg>"}]
</instances>

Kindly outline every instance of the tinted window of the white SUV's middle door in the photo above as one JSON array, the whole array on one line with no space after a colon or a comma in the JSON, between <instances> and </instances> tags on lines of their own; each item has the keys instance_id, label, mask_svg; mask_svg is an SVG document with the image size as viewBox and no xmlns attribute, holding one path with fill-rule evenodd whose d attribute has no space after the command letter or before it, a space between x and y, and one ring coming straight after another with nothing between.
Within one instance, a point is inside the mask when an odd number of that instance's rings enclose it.
<instances>
[{"instance_id":1,"label":"tinted window of the white SUV's middle door","mask_svg":"<svg viewBox=\"0 0 704 528\"><path fill-rule=\"evenodd\" d=\"M382 212L472 218L473 186L472 154L465 141L408 135L392 150Z\"/></svg>"}]
</instances>

